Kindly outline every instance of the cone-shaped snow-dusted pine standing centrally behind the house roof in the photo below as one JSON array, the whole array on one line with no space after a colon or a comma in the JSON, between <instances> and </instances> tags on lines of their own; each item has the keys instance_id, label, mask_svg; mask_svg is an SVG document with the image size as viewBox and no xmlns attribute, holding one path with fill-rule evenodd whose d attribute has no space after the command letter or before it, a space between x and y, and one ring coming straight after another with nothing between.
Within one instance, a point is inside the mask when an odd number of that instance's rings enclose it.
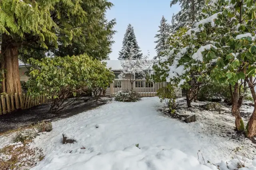
<instances>
[{"instance_id":1,"label":"cone-shaped snow-dusted pine standing centrally behind the house roof","mask_svg":"<svg viewBox=\"0 0 256 170\"><path fill-rule=\"evenodd\" d=\"M123 47L119 52L118 59L126 60L129 59L130 55L133 56L133 59L142 59L142 53L140 51L140 47L138 46L134 29L131 24L128 25L126 33L124 34Z\"/></svg>"}]
</instances>

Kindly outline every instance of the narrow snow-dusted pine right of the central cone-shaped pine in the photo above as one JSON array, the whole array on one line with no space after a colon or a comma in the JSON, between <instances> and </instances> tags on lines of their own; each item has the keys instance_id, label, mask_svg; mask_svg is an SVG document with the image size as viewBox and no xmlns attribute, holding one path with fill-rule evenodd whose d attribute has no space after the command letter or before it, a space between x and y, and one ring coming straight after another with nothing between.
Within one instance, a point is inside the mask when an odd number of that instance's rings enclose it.
<instances>
[{"instance_id":1,"label":"narrow snow-dusted pine right of the central cone-shaped pine","mask_svg":"<svg viewBox=\"0 0 256 170\"><path fill-rule=\"evenodd\" d=\"M156 40L154 43L157 43L156 45L156 56L154 59L159 58L162 55L162 52L167 50L169 48L169 45L166 44L166 40L168 40L169 33L170 33L170 25L167 23L167 20L162 16L162 20L160 21L160 26L159 26L159 33L156 34L155 38Z\"/></svg>"}]
</instances>

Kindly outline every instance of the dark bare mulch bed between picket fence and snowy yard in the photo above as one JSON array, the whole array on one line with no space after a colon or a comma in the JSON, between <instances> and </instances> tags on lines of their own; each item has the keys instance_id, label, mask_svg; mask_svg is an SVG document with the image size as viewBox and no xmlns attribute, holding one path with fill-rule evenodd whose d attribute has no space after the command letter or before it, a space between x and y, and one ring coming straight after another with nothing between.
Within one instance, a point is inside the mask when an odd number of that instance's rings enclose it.
<instances>
[{"instance_id":1,"label":"dark bare mulch bed between picket fence and snowy yard","mask_svg":"<svg viewBox=\"0 0 256 170\"><path fill-rule=\"evenodd\" d=\"M0 134L13 129L18 129L20 127L34 125L35 123L43 120L55 121L56 119L70 117L83 111L102 106L109 100L111 100L111 98L100 99L98 102L96 102L91 97L80 98L71 106L64 108L58 114L51 114L48 112L51 105L51 103L48 103L35 106L30 109L20 109L12 113L0 115Z\"/></svg>"}]
</instances>

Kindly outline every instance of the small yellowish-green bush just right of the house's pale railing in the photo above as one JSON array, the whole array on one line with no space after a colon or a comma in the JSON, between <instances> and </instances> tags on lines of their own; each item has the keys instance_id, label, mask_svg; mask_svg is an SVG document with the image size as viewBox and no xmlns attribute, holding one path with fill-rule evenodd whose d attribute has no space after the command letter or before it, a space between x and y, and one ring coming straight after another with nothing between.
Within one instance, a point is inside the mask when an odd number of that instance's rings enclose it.
<instances>
[{"instance_id":1,"label":"small yellowish-green bush just right of the house's pale railing","mask_svg":"<svg viewBox=\"0 0 256 170\"><path fill-rule=\"evenodd\" d=\"M156 95L160 98L160 102L163 101L166 103L168 108L172 113L174 113L174 109L176 108L176 92L173 84L168 84L166 87L160 88Z\"/></svg>"}]
</instances>

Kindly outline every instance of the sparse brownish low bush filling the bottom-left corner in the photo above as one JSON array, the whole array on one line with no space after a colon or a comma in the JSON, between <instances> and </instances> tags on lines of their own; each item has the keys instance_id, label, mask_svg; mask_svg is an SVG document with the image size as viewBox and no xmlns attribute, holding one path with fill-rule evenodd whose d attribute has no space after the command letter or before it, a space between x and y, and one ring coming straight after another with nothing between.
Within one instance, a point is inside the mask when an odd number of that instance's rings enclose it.
<instances>
[{"instance_id":1,"label":"sparse brownish low bush filling the bottom-left corner","mask_svg":"<svg viewBox=\"0 0 256 170\"><path fill-rule=\"evenodd\" d=\"M44 158L42 149L30 148L29 142L15 143L0 149L0 170L22 170L41 161Z\"/></svg>"}]
</instances>

